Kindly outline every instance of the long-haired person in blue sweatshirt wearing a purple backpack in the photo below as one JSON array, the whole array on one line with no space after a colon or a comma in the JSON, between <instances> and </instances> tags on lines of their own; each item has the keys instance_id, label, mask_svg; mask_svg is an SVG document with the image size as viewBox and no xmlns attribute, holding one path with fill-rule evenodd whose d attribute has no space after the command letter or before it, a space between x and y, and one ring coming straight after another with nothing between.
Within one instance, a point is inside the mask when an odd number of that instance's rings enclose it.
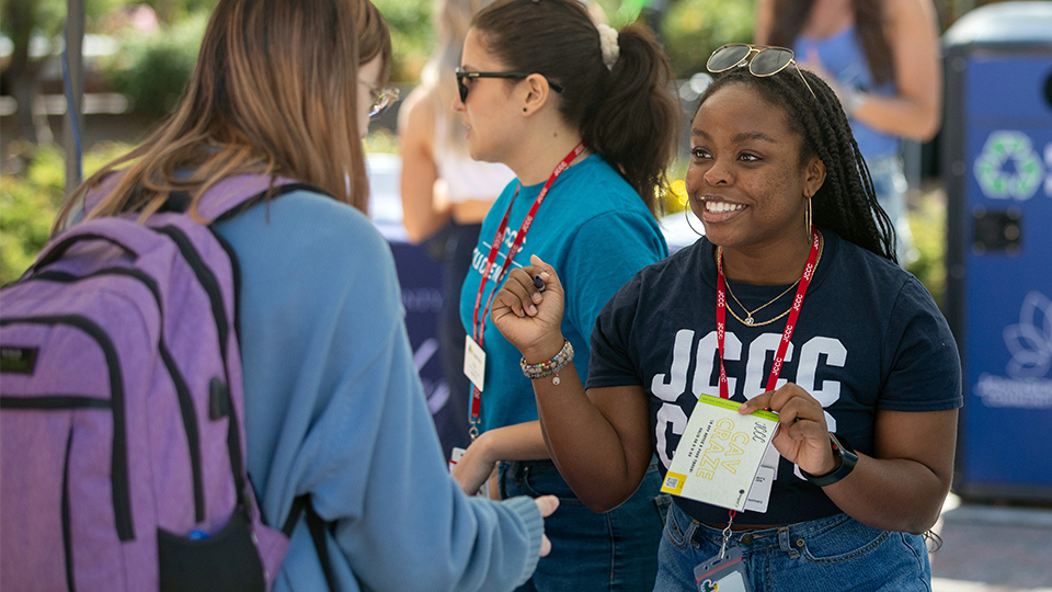
<instances>
[{"instance_id":1,"label":"long-haired person in blue sweatshirt wearing a purple backpack","mask_svg":"<svg viewBox=\"0 0 1052 592\"><path fill-rule=\"evenodd\" d=\"M390 60L366 0L220 0L174 114L70 196L2 295L0 588L533 573L558 502L447 474L365 215Z\"/></svg>"}]
</instances>

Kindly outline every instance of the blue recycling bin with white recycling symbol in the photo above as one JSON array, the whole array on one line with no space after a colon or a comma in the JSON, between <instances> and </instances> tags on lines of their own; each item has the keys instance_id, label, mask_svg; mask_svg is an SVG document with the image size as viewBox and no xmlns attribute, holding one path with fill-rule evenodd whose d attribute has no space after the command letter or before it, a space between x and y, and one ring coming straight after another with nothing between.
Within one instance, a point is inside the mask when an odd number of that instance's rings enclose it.
<instances>
[{"instance_id":1,"label":"blue recycling bin with white recycling symbol","mask_svg":"<svg viewBox=\"0 0 1052 592\"><path fill-rule=\"evenodd\" d=\"M954 491L1052 500L1052 2L944 36L946 312L964 367Z\"/></svg>"}]
</instances>

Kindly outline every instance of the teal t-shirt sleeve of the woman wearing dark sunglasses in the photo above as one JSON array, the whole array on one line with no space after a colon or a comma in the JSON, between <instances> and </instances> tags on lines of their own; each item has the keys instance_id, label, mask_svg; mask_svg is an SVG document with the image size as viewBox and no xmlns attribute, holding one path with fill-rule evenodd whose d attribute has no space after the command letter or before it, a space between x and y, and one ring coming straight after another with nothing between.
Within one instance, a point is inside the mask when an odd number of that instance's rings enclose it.
<instances>
[{"instance_id":1,"label":"teal t-shirt sleeve of the woman wearing dark sunglasses","mask_svg":"<svg viewBox=\"0 0 1052 592\"><path fill-rule=\"evenodd\" d=\"M560 272L567 291L564 322L587 343L614 294L639 270L667 255L658 223L645 213L613 210L587 220L570 240L565 272Z\"/></svg>"}]
</instances>

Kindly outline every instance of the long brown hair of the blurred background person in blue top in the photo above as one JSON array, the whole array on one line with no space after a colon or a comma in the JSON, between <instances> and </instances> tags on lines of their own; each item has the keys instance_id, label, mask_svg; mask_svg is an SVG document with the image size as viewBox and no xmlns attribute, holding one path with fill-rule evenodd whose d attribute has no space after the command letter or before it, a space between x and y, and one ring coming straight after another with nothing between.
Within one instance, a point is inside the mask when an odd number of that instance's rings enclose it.
<instances>
[{"instance_id":1,"label":"long brown hair of the blurred background person in blue top","mask_svg":"<svg viewBox=\"0 0 1052 592\"><path fill-rule=\"evenodd\" d=\"M869 71L877 83L891 82L895 78L895 64L891 56L891 43L884 31L883 0L853 0L855 32L862 44L862 53ZM800 35L814 0L775 0L773 27L768 45L792 47Z\"/></svg>"}]
</instances>

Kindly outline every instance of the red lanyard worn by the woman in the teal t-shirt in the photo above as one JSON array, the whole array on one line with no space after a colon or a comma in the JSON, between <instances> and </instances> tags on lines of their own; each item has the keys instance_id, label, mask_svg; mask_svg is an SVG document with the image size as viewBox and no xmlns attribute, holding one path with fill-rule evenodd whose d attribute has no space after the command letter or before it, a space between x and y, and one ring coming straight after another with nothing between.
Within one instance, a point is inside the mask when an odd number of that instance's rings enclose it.
<instances>
[{"instance_id":1,"label":"red lanyard worn by the woman in the teal t-shirt","mask_svg":"<svg viewBox=\"0 0 1052 592\"><path fill-rule=\"evenodd\" d=\"M501 265L501 272L493 278L493 289L490 292L490 297L485 301L485 306L482 307L482 316L479 317L479 309L482 305L482 293L485 291L485 283L490 278L490 273L493 271L493 262L496 260L496 253L501 250L501 244L504 243L504 235L507 232L507 219L512 215L512 206L515 205L515 197L518 196L518 190L522 189L522 184L518 187L515 187L515 194L512 195L512 203L507 204L507 210L504 212L504 217L501 219L501 225L496 228L496 236L493 237L493 244L490 246L490 254L485 259L485 266L482 269L482 280L479 282L479 294L474 298L474 314L471 317L472 321L472 338L479 346L482 346L482 338L485 334L485 317L489 315L490 305L493 304L493 296L496 294L496 286L500 285L501 281L504 278L504 274L507 273L507 269L512 264L512 260L515 259L515 255L518 254L519 249L523 248L523 240L526 239L526 232L529 231L530 225L534 224L534 217L537 215L537 210L540 208L540 204L544 203L545 197L548 195L548 190L551 189L551 184L556 182L556 179L563 173L570 163L573 162L575 158L581 156L581 152L584 151L584 143L576 145L573 150L570 150L570 153L562 159L561 162L556 167L556 170L551 172L551 177L548 178L548 182L545 183L545 186L540 190L540 193L537 194L537 198L534 200L533 207L529 208L529 212L526 214L526 218L523 219L522 226L518 227L518 234L515 235L515 240L512 242L512 246L507 249L507 257L504 259L504 264ZM472 385L471 392L471 430L472 434L477 433L477 424L479 422L479 410L482 403L482 391L478 387Z\"/></svg>"}]
</instances>

